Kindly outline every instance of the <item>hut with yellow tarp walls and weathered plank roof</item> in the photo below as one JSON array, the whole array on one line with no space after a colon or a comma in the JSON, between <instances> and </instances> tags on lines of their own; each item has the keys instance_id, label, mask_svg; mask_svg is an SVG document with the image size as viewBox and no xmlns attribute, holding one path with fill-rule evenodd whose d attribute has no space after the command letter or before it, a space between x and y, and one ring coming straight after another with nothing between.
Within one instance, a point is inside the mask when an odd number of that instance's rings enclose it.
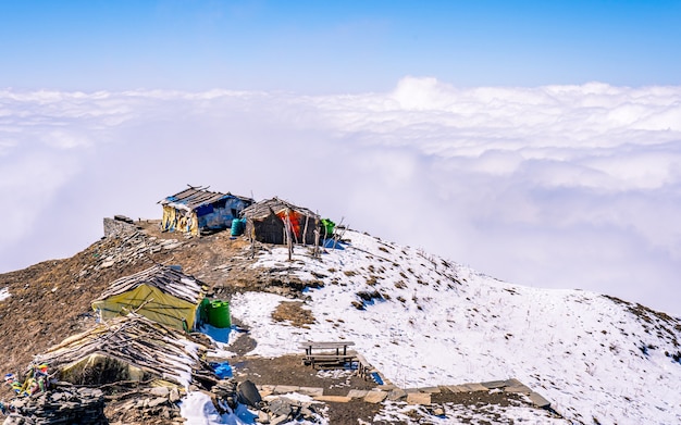
<instances>
[{"instance_id":1,"label":"hut with yellow tarp walls and weathered plank roof","mask_svg":"<svg viewBox=\"0 0 681 425\"><path fill-rule=\"evenodd\" d=\"M175 329L190 330L200 314L206 285L191 276L165 266L121 277L92 301L102 320L137 312Z\"/></svg>"}]
</instances>

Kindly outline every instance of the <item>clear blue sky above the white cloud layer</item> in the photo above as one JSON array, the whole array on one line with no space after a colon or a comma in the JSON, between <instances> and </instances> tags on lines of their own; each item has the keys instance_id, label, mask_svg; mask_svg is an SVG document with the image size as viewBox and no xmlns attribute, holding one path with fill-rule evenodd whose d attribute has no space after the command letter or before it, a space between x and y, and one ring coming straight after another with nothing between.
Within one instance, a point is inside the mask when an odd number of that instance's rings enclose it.
<instances>
[{"instance_id":1,"label":"clear blue sky above the white cloud layer","mask_svg":"<svg viewBox=\"0 0 681 425\"><path fill-rule=\"evenodd\" d=\"M680 1L2 1L0 86L674 85Z\"/></svg>"}]
</instances>

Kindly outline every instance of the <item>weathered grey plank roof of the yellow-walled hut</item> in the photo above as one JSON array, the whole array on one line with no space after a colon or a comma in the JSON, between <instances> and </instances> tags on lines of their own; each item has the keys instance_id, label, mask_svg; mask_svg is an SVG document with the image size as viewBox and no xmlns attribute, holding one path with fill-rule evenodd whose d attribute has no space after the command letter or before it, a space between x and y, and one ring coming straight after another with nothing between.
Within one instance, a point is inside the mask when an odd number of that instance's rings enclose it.
<instances>
[{"instance_id":1,"label":"weathered grey plank roof of the yellow-walled hut","mask_svg":"<svg viewBox=\"0 0 681 425\"><path fill-rule=\"evenodd\" d=\"M99 300L106 300L109 297L135 289L140 285L153 286L173 297L198 304L203 298L201 287L206 284L166 265L157 264L139 273L112 282L109 288L99 297Z\"/></svg>"}]
</instances>

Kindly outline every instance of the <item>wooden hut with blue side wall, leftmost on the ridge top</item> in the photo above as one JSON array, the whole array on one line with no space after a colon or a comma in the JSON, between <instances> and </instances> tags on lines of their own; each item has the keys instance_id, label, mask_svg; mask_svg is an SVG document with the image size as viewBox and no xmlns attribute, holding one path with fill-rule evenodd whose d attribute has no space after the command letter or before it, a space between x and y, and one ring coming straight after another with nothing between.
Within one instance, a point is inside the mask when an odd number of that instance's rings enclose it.
<instances>
[{"instance_id":1,"label":"wooden hut with blue side wall, leftmost on the ridge top","mask_svg":"<svg viewBox=\"0 0 681 425\"><path fill-rule=\"evenodd\" d=\"M253 200L230 192L209 191L189 186L187 189L159 201L163 205L161 229L200 235L232 226L242 211Z\"/></svg>"}]
</instances>

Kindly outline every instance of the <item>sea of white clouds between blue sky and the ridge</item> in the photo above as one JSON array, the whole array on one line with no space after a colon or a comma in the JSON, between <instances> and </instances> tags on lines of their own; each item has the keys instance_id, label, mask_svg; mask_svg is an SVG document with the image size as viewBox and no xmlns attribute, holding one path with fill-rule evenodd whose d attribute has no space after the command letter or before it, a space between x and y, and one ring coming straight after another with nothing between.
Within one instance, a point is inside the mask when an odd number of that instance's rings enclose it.
<instances>
[{"instance_id":1,"label":"sea of white clouds between blue sky and the ridge","mask_svg":"<svg viewBox=\"0 0 681 425\"><path fill-rule=\"evenodd\" d=\"M0 90L0 273L190 185L273 196L503 280L681 314L681 87Z\"/></svg>"}]
</instances>

